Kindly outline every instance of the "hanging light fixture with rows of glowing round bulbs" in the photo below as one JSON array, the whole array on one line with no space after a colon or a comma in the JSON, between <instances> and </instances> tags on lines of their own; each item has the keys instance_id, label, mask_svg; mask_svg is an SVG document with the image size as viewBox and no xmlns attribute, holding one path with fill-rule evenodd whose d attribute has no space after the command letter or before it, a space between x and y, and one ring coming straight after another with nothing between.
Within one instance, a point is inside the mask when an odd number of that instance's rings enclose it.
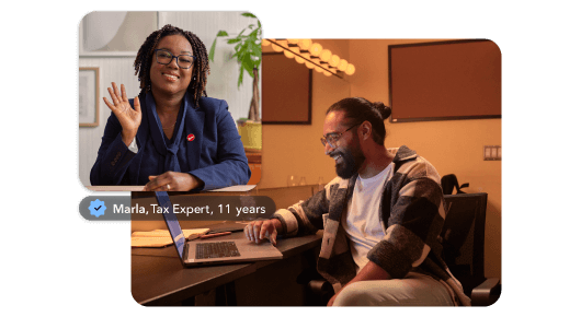
<instances>
[{"instance_id":1,"label":"hanging light fixture with rows of glowing round bulbs","mask_svg":"<svg viewBox=\"0 0 581 317\"><path fill-rule=\"evenodd\" d=\"M312 43L310 38L262 38L263 46L271 44L274 51L283 51L287 58L294 57L296 62L324 75L342 79L343 74L355 73L355 66L323 48L319 43Z\"/></svg>"}]
</instances>

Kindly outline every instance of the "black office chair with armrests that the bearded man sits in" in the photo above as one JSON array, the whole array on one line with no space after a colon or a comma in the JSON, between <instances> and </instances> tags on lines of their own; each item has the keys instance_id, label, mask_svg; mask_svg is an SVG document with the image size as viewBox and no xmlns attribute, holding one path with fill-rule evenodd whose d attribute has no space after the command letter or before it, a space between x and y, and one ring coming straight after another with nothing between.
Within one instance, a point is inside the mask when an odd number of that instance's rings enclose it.
<instances>
[{"instance_id":1,"label":"black office chair with armrests that the bearded man sits in","mask_svg":"<svg viewBox=\"0 0 581 317\"><path fill-rule=\"evenodd\" d=\"M462 283L472 307L486 307L500 297L500 279L485 278L485 225L488 195L444 195L448 213L442 228L442 257ZM307 305L327 305L334 295L331 284L312 270L297 282L307 284Z\"/></svg>"}]
</instances>

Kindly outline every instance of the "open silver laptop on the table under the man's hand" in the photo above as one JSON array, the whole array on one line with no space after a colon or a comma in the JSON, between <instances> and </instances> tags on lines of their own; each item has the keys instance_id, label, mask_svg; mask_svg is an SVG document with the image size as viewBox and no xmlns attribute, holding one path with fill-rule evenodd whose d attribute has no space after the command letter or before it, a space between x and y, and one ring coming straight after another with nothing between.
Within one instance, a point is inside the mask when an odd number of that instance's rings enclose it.
<instances>
[{"instance_id":1,"label":"open silver laptop on the table under the man's hand","mask_svg":"<svg viewBox=\"0 0 581 317\"><path fill-rule=\"evenodd\" d=\"M166 191L156 191L160 207L166 207L169 213L163 213L163 219L173 239L173 245L184 267L212 266L258 260L282 259L283 254L270 242L260 244L248 240L246 237L237 239L187 242L183 235L178 218L173 213L170 198Z\"/></svg>"}]
</instances>

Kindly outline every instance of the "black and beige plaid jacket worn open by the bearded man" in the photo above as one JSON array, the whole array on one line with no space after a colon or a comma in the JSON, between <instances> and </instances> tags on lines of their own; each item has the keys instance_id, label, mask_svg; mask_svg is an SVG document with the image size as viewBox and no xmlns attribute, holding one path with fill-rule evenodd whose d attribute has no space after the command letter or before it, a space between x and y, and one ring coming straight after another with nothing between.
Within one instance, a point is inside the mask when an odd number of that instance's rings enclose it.
<instances>
[{"instance_id":1,"label":"black and beige plaid jacket worn open by the bearded man","mask_svg":"<svg viewBox=\"0 0 581 317\"><path fill-rule=\"evenodd\" d=\"M460 283L442 260L440 233L444 224L444 196L436 169L415 151L402 145L388 149L395 153L394 175L384 184L380 202L385 237L367 258L386 270L392 279L410 271L429 274L448 290L456 305L469 306ZM317 270L335 292L356 272L341 215L353 195L357 175L351 179L334 178L306 201L275 212L283 224L282 236L314 234L324 230Z\"/></svg>"}]
</instances>

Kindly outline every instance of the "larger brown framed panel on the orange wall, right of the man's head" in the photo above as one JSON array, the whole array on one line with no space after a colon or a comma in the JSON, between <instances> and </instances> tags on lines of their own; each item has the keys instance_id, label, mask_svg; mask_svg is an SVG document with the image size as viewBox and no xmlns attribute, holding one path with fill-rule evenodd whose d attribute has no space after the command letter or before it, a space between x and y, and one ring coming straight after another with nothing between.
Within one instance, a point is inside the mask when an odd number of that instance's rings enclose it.
<instances>
[{"instance_id":1,"label":"larger brown framed panel on the orange wall, right of the man's head","mask_svg":"<svg viewBox=\"0 0 581 317\"><path fill-rule=\"evenodd\" d=\"M391 122L502 118L502 54L488 39L388 46Z\"/></svg>"}]
</instances>

